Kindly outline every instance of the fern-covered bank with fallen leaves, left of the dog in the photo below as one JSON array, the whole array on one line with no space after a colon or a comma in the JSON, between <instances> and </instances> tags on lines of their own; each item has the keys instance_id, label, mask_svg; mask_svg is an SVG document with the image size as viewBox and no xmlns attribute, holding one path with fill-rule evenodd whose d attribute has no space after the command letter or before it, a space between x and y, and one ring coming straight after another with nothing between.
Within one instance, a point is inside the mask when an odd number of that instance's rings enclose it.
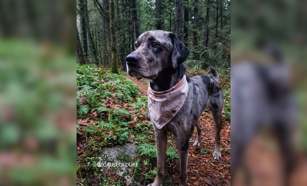
<instances>
[{"instance_id":1,"label":"fern-covered bank with fallen leaves, left of the dog","mask_svg":"<svg viewBox=\"0 0 307 186\"><path fill-rule=\"evenodd\" d=\"M83 185L124 185L93 164L99 162L104 147L154 142L151 122L145 117L147 97L141 96L138 86L122 72L113 74L89 64L77 64L76 82L77 181Z\"/></svg>"}]
</instances>

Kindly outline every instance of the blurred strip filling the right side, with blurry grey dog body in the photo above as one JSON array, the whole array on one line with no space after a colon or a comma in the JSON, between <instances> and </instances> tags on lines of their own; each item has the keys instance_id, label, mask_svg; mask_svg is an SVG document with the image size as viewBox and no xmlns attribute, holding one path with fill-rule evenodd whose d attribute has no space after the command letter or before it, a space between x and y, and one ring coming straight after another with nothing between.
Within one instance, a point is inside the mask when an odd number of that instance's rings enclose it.
<instances>
[{"instance_id":1,"label":"blurred strip filling the right side, with blurry grey dog body","mask_svg":"<svg viewBox=\"0 0 307 186\"><path fill-rule=\"evenodd\" d=\"M307 185L306 3L231 10L231 184Z\"/></svg>"}]
</instances>

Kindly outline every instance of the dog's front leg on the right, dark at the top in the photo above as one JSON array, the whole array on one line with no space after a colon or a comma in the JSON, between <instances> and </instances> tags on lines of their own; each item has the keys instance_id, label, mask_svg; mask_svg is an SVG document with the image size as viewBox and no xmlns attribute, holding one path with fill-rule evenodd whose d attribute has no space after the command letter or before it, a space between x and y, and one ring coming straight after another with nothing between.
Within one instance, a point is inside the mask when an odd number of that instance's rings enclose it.
<instances>
[{"instance_id":1,"label":"dog's front leg on the right, dark at the top","mask_svg":"<svg viewBox=\"0 0 307 186\"><path fill-rule=\"evenodd\" d=\"M179 174L179 186L186 186L188 184L188 150L189 150L189 139L183 139L182 136L175 138L178 156L179 156L179 165L180 165L180 174Z\"/></svg>"}]
</instances>

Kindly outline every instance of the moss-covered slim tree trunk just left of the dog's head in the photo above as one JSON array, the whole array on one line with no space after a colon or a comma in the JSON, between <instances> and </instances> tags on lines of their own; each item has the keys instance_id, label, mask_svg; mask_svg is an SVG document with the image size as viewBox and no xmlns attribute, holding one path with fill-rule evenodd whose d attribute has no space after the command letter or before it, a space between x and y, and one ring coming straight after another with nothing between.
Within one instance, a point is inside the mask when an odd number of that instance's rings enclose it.
<instances>
[{"instance_id":1,"label":"moss-covered slim tree trunk just left of the dog's head","mask_svg":"<svg viewBox=\"0 0 307 186\"><path fill-rule=\"evenodd\" d=\"M118 74L119 55L115 29L114 0L110 0L110 33L111 33L111 72Z\"/></svg>"}]
</instances>

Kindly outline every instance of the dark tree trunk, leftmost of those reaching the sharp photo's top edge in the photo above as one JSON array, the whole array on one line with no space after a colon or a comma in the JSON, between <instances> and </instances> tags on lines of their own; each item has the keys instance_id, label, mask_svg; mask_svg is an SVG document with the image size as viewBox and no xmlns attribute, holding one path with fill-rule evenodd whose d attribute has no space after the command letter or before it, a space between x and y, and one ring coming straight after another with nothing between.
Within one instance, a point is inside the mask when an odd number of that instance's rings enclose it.
<instances>
[{"instance_id":1,"label":"dark tree trunk, leftmost of those reaching the sharp photo's top edge","mask_svg":"<svg viewBox=\"0 0 307 186\"><path fill-rule=\"evenodd\" d=\"M86 18L85 18L85 5L84 0L79 0L80 6L80 25L81 25L81 35L82 35L82 44L84 51L85 63L88 62L88 49L87 49L87 29L86 29Z\"/></svg>"}]
</instances>

